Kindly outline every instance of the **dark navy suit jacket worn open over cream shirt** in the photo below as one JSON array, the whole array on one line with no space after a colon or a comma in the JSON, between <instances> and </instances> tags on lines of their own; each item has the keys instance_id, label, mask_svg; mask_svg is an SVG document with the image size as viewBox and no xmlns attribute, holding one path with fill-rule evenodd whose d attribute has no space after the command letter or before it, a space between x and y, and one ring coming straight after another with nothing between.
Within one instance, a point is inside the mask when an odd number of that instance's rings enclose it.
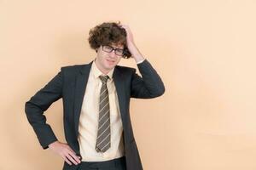
<instances>
[{"instance_id":1,"label":"dark navy suit jacket worn open over cream shirt","mask_svg":"<svg viewBox=\"0 0 256 170\"><path fill-rule=\"evenodd\" d=\"M61 71L26 102L26 117L44 149L47 149L49 144L57 140L55 133L46 123L44 111L53 102L62 98L65 138L67 144L80 156L78 142L79 116L91 64L92 62L87 65L61 67ZM113 71L113 82L118 94L119 110L124 129L127 170L143 169L131 127L130 99L150 99L165 92L163 82L147 59L137 66L142 77L139 77L136 70L130 67L116 65ZM63 169L77 168L78 166L69 166L64 162Z\"/></svg>"}]
</instances>

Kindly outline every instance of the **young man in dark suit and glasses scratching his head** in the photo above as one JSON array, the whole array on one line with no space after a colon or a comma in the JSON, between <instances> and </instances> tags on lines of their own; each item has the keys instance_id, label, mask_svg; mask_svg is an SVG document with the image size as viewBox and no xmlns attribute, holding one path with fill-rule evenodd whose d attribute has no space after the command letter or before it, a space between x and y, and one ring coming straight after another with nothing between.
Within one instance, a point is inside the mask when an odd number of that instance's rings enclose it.
<instances>
[{"instance_id":1,"label":"young man in dark suit and glasses scratching his head","mask_svg":"<svg viewBox=\"0 0 256 170\"><path fill-rule=\"evenodd\" d=\"M64 170L141 170L129 113L130 99L164 94L159 75L137 49L129 26L103 23L90 30L96 59L86 65L61 67L44 88L26 102L26 116L44 149L64 159ZM133 58L134 68L119 66ZM67 144L56 139L44 111L63 101Z\"/></svg>"}]
</instances>

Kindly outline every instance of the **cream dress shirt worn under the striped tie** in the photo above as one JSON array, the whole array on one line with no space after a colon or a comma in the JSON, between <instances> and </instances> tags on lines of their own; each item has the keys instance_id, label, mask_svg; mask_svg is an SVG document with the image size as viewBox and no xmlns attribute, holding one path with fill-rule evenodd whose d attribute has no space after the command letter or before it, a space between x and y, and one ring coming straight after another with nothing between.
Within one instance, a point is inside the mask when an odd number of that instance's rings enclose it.
<instances>
[{"instance_id":1,"label":"cream dress shirt worn under the striped tie","mask_svg":"<svg viewBox=\"0 0 256 170\"><path fill-rule=\"evenodd\" d=\"M99 99L102 82L99 76L104 75L93 61L86 85L84 100L79 119L79 147L82 161L108 161L125 155L123 142L123 125L119 111L119 99L113 83L113 70L108 72L107 87L110 107L111 147L96 152L97 127L99 119Z\"/></svg>"}]
</instances>

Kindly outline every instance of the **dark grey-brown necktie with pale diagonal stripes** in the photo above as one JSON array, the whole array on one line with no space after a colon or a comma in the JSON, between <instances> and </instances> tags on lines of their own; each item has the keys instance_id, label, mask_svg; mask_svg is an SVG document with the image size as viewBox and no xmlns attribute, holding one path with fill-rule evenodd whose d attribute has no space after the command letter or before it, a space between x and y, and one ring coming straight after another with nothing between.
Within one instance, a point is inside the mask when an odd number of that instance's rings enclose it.
<instances>
[{"instance_id":1,"label":"dark grey-brown necktie with pale diagonal stripes","mask_svg":"<svg viewBox=\"0 0 256 170\"><path fill-rule=\"evenodd\" d=\"M100 76L102 88L99 103L99 122L96 139L96 151L105 152L110 148L110 114L107 81L108 76Z\"/></svg>"}]
</instances>

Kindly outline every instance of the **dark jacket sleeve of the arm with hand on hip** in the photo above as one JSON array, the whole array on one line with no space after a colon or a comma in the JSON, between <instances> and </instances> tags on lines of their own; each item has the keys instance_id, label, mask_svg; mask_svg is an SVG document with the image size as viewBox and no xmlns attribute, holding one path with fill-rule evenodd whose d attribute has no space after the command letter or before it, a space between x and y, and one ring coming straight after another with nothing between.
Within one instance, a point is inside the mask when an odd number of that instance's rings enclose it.
<instances>
[{"instance_id":1,"label":"dark jacket sleeve of the arm with hand on hip","mask_svg":"<svg viewBox=\"0 0 256 170\"><path fill-rule=\"evenodd\" d=\"M62 79L62 72L60 71L25 104L28 122L32 125L39 143L44 149L47 149L49 144L57 140L52 128L46 123L44 111L62 97Z\"/></svg>"}]
</instances>

